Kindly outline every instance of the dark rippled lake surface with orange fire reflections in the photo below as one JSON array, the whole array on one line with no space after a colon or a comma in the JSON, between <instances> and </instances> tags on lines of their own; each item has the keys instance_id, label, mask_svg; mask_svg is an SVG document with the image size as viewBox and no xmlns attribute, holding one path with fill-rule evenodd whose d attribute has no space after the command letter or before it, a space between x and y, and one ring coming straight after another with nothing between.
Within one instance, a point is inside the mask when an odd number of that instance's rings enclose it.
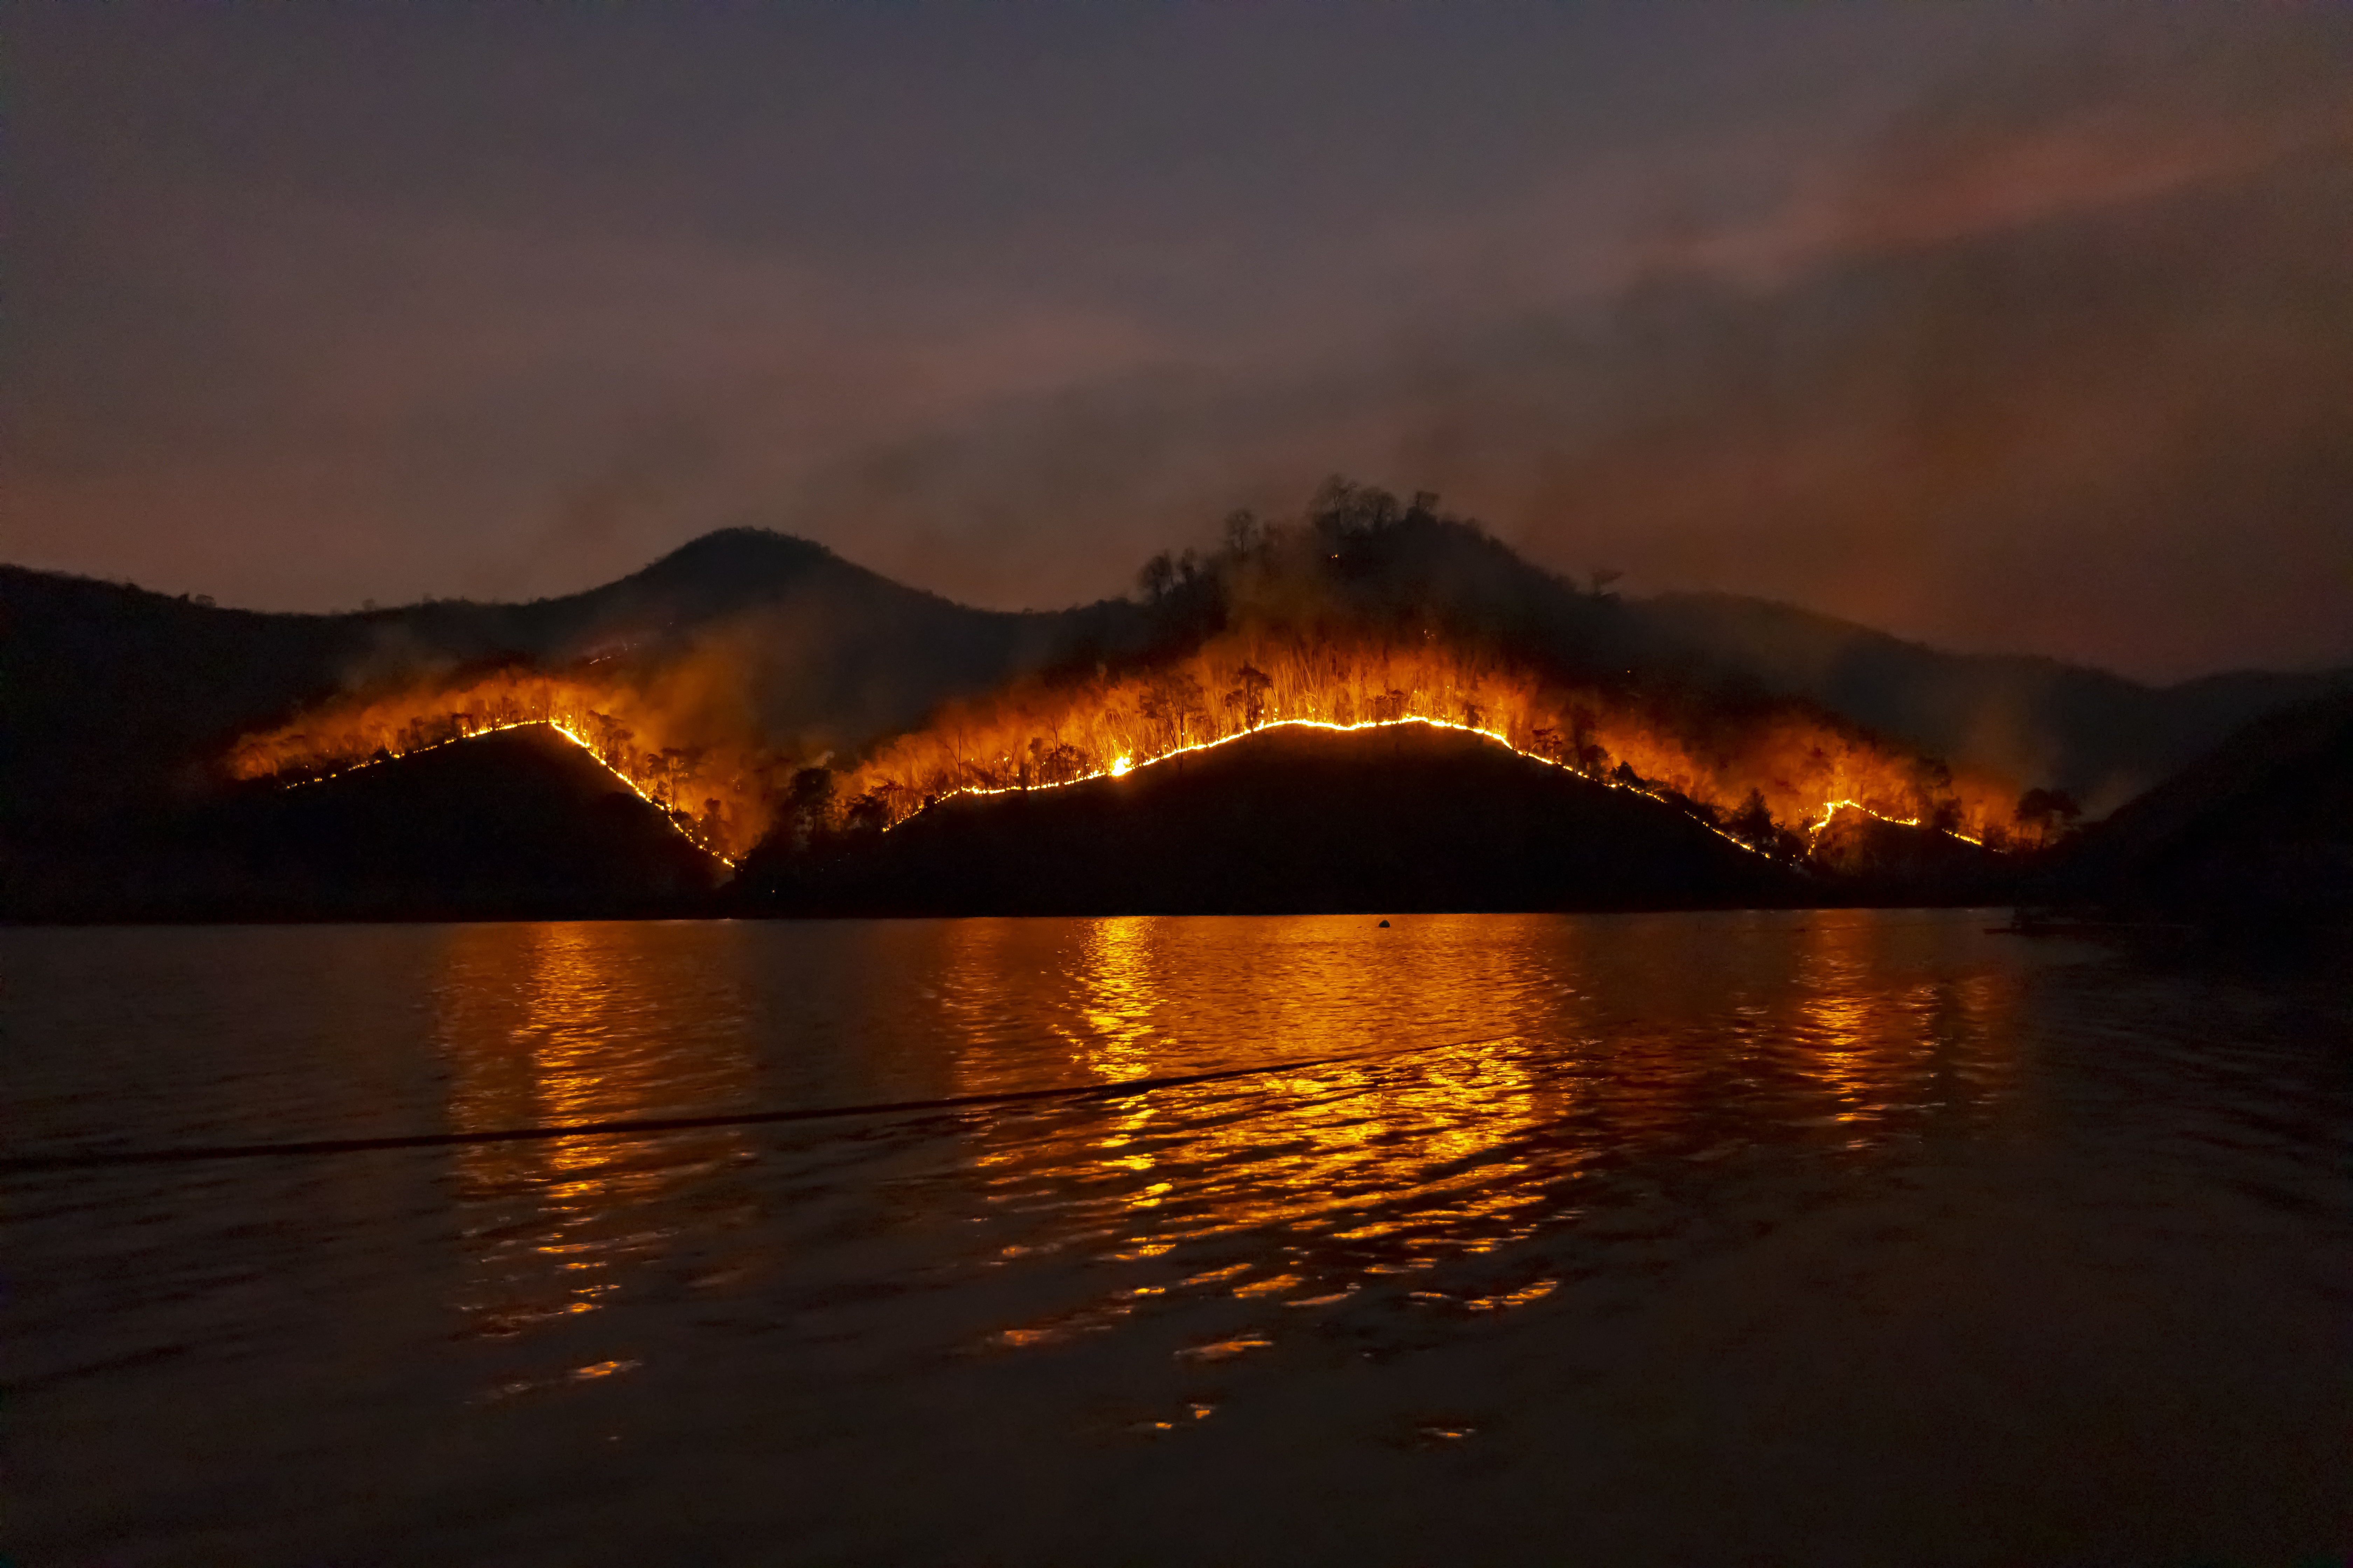
<instances>
[{"instance_id":1,"label":"dark rippled lake surface with orange fire reflections","mask_svg":"<svg viewBox=\"0 0 2353 1568\"><path fill-rule=\"evenodd\" d=\"M2346 971L1986 924L0 931L12 1157L1264 1067L7 1173L0 1552L2332 1561Z\"/></svg>"}]
</instances>

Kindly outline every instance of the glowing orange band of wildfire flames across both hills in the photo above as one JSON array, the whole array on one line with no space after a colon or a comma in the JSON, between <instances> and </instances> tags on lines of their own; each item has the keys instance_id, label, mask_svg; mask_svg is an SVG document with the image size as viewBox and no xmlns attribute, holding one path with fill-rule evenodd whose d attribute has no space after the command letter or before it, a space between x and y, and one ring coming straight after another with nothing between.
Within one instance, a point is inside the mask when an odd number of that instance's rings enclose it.
<instances>
[{"instance_id":1,"label":"glowing orange band of wildfire flames across both hills","mask_svg":"<svg viewBox=\"0 0 2353 1568\"><path fill-rule=\"evenodd\" d=\"M701 717L696 717L701 715ZM734 865L786 811L812 832L894 827L958 795L1125 778L1266 729L1424 724L1475 733L1600 785L1668 802L1725 839L1802 856L1842 811L1984 844L2012 788L1953 776L1793 703L1732 705L1675 689L1562 682L1435 637L1412 642L1228 630L1186 656L1035 682L953 705L842 773L729 741L659 682L607 668L506 668L353 698L238 743L240 778L304 783L504 729L546 726L595 757L687 839ZM741 729L741 726L736 726ZM807 776L821 780L809 792Z\"/></svg>"}]
</instances>

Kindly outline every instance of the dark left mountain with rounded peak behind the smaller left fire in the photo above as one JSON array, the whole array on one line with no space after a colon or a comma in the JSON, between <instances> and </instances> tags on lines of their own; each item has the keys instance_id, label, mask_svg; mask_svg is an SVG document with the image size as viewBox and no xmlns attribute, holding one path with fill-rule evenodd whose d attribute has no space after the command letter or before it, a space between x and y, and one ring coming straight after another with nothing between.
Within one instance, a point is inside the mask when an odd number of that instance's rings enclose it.
<instances>
[{"instance_id":1,"label":"dark left mountain with rounded peak behind the smaller left fire","mask_svg":"<svg viewBox=\"0 0 2353 1568\"><path fill-rule=\"evenodd\" d=\"M562 599L325 616L0 567L0 846L186 802L245 731L473 665L645 668L711 651L779 736L852 748L1132 621L1122 604L967 609L758 529L708 534Z\"/></svg>"}]
</instances>

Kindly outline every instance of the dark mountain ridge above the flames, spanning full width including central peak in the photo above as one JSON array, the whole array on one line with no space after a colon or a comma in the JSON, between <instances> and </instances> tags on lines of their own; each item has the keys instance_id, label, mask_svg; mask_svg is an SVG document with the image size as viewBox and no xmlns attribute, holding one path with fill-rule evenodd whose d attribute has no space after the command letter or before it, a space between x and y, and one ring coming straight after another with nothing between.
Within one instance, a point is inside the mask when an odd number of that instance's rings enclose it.
<instances>
[{"instance_id":1,"label":"dark mountain ridge above the flames, spanning full width including central peak","mask_svg":"<svg viewBox=\"0 0 2353 1568\"><path fill-rule=\"evenodd\" d=\"M953 698L1148 661L1235 618L1301 630L1346 621L1414 637L1452 628L1541 668L1612 682L1729 703L1795 696L2094 806L2249 717L2346 679L2228 675L2153 689L2054 661L1941 654L1755 599L1624 602L1532 567L1478 524L1435 512L1435 498L1400 505L1337 482L1280 531L1280 548L1278 531L1238 515L1221 552L1153 562L1139 599L1064 611L960 607L758 529L704 536L560 599L325 616L216 609L0 567L0 877L54 891L73 882L61 867L87 865L92 886L115 886L122 844L193 853L186 823L247 799L224 771L238 736L329 698L496 665L602 668L689 686L776 757L814 762L859 755ZM1325 538L1329 550L1308 548ZM492 762L480 771L485 795L501 788ZM1480 809L1424 804L1435 823ZM221 832L224 844L261 853L259 837ZM1899 882L1913 884L1918 870ZM9 898L12 910L35 905L54 900Z\"/></svg>"}]
</instances>

